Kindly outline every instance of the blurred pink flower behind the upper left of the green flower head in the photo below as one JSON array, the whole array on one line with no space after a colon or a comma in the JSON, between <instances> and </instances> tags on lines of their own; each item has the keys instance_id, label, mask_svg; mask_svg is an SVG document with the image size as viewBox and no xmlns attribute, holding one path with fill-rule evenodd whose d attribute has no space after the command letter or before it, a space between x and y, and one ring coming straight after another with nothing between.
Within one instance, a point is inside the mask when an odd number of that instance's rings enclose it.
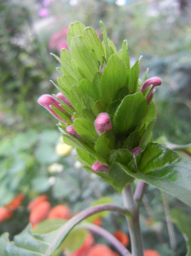
<instances>
[{"instance_id":1,"label":"blurred pink flower behind the upper left of the green flower head","mask_svg":"<svg viewBox=\"0 0 191 256\"><path fill-rule=\"evenodd\" d=\"M49 48L56 48L60 52L63 48L69 49L67 43L68 26L53 34L49 43Z\"/></svg>"}]
</instances>

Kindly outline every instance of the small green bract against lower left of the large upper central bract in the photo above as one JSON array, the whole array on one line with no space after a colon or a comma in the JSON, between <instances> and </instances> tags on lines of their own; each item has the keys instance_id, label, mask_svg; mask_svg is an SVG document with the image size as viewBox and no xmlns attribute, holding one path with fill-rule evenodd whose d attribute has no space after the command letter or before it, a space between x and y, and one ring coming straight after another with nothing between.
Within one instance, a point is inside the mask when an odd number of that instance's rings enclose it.
<instances>
[{"instance_id":1,"label":"small green bract against lower left of the large upper central bract","mask_svg":"<svg viewBox=\"0 0 191 256\"><path fill-rule=\"evenodd\" d=\"M96 86L96 84L91 83L87 79L83 79L80 81L79 88L87 93L92 99L94 99L94 101L97 101L101 98L99 87Z\"/></svg>"}]
</instances>

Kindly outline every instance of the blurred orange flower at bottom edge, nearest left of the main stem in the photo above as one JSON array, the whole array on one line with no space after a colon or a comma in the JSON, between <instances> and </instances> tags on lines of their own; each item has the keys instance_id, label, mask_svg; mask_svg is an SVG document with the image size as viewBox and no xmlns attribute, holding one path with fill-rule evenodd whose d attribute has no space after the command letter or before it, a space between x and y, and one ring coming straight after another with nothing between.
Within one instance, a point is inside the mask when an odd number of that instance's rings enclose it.
<instances>
[{"instance_id":1,"label":"blurred orange flower at bottom edge, nearest left of the main stem","mask_svg":"<svg viewBox=\"0 0 191 256\"><path fill-rule=\"evenodd\" d=\"M106 244L96 244L90 248L87 256L119 256L112 251Z\"/></svg>"}]
</instances>

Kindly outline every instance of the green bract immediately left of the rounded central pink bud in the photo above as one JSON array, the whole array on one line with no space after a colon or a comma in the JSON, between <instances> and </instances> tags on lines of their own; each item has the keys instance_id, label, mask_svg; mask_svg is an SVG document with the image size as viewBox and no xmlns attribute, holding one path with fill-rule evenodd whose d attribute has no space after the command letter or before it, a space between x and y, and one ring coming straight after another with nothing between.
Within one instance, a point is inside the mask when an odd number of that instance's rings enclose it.
<instances>
[{"instance_id":1,"label":"green bract immediately left of the rounded central pink bud","mask_svg":"<svg viewBox=\"0 0 191 256\"><path fill-rule=\"evenodd\" d=\"M74 130L85 140L95 143L98 134L95 130L94 123L85 118L77 118L73 121Z\"/></svg>"}]
</instances>

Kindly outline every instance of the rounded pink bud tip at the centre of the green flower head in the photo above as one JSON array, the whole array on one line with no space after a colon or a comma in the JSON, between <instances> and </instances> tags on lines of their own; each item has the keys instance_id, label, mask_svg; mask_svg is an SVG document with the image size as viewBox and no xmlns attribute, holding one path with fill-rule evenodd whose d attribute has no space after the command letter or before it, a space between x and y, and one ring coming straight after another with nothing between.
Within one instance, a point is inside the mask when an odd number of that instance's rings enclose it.
<instances>
[{"instance_id":1,"label":"rounded pink bud tip at the centre of the green flower head","mask_svg":"<svg viewBox=\"0 0 191 256\"><path fill-rule=\"evenodd\" d=\"M107 113L100 113L95 119L94 125L99 136L105 131L113 129L110 117Z\"/></svg>"}]
</instances>

